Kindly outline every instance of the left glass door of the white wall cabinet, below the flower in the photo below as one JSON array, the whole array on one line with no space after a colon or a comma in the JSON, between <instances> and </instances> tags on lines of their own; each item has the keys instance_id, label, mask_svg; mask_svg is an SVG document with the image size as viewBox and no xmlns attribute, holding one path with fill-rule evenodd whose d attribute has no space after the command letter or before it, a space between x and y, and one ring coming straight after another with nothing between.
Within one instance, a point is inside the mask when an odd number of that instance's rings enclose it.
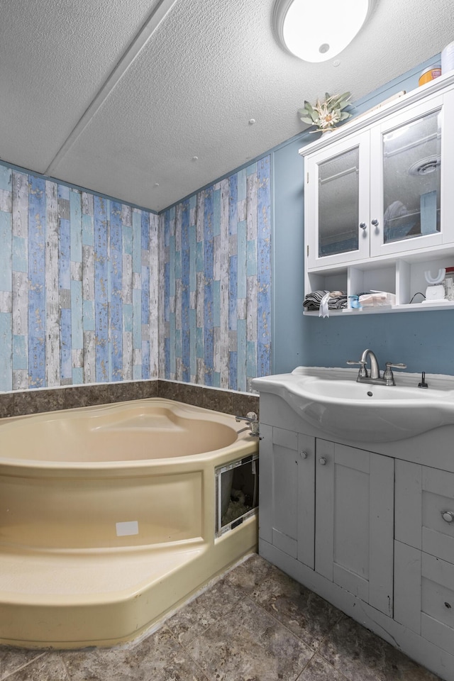
<instances>
[{"instance_id":1,"label":"left glass door of the white wall cabinet, below the flower","mask_svg":"<svg viewBox=\"0 0 454 681\"><path fill-rule=\"evenodd\" d=\"M314 213L306 226L314 231L309 266L369 255L369 160L364 140L364 135L358 135L308 160Z\"/></svg>"}]
</instances>

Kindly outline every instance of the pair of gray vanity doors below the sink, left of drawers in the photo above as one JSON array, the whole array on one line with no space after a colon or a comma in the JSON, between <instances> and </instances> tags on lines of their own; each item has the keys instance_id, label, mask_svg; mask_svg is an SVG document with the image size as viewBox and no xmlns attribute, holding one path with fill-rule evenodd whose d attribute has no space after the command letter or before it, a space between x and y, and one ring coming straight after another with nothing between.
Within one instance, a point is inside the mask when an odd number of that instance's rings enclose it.
<instances>
[{"instance_id":1,"label":"pair of gray vanity doors below the sink, left of drawers","mask_svg":"<svg viewBox=\"0 0 454 681\"><path fill-rule=\"evenodd\" d=\"M392 616L394 460L262 424L262 541Z\"/></svg>"}]
</instances>

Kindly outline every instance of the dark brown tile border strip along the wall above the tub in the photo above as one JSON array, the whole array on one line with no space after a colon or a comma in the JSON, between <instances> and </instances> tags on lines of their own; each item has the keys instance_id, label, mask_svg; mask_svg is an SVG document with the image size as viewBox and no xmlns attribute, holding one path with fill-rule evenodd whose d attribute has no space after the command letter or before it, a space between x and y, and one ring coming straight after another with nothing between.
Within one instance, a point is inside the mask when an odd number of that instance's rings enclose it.
<instances>
[{"instance_id":1,"label":"dark brown tile border strip along the wall above the tub","mask_svg":"<svg viewBox=\"0 0 454 681\"><path fill-rule=\"evenodd\" d=\"M65 388L23 390L0 394L0 419L75 409L96 404L126 402L146 397L165 397L225 414L259 413L258 395L208 388L174 381L150 380L80 385Z\"/></svg>"}]
</instances>

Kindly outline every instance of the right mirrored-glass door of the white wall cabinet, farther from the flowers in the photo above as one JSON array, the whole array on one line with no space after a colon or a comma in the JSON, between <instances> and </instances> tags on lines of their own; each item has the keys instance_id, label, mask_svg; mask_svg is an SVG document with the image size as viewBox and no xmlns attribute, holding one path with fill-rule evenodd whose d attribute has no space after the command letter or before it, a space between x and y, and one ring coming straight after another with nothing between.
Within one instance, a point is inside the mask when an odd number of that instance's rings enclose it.
<instances>
[{"instance_id":1,"label":"right mirrored-glass door of the white wall cabinet, farther from the flowers","mask_svg":"<svg viewBox=\"0 0 454 681\"><path fill-rule=\"evenodd\" d=\"M441 147L442 116L434 102L418 106L411 120L402 115L380 130L382 167L380 181L371 175L371 216L377 225L372 233L371 255L399 253L442 243ZM431 109L431 110L430 110ZM417 111L417 117L416 117ZM372 139L372 158L377 158ZM377 164L378 166L378 164ZM380 196L378 195L380 188ZM375 196L374 196L375 192Z\"/></svg>"}]
</instances>

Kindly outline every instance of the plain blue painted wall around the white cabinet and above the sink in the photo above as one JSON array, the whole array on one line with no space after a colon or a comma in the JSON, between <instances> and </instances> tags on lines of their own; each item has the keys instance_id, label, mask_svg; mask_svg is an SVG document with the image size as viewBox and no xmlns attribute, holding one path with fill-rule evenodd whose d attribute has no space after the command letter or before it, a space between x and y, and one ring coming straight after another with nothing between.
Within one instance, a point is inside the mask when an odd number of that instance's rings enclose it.
<instances>
[{"instance_id":1,"label":"plain blue painted wall around the white cabinet and above the sink","mask_svg":"<svg viewBox=\"0 0 454 681\"><path fill-rule=\"evenodd\" d=\"M434 57L355 102L355 113L367 111L392 94L418 85ZM274 373L299 365L343 367L372 348L380 365L405 362L408 371L454 375L454 310L303 316L304 299L304 160L298 150L312 141L305 133L273 150L273 333ZM454 153L454 150L453 150Z\"/></svg>"}]
</instances>

